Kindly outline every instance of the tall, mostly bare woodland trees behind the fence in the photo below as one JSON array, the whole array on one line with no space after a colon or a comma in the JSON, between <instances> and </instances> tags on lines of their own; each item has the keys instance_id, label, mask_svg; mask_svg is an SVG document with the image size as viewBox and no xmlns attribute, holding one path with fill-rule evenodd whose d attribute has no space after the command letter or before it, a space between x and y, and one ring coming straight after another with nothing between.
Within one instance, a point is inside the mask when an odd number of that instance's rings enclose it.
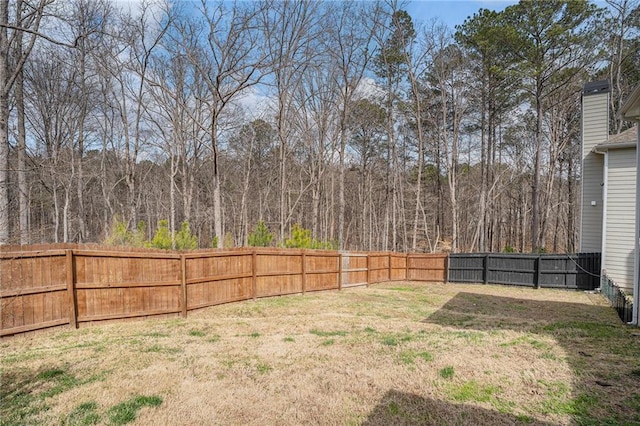
<instances>
[{"instance_id":1,"label":"tall, mostly bare woodland trees behind the fence","mask_svg":"<svg viewBox=\"0 0 640 426\"><path fill-rule=\"evenodd\" d=\"M631 124L638 0L405 6L0 0L0 243L576 250L580 92Z\"/></svg>"}]
</instances>

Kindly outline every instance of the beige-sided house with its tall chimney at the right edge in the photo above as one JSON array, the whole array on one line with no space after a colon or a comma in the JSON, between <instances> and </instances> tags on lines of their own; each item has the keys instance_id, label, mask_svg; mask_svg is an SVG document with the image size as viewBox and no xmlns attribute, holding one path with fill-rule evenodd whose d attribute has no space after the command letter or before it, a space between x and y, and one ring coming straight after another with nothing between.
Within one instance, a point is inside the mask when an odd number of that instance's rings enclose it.
<instances>
[{"instance_id":1,"label":"beige-sided house with its tall chimney at the right edge","mask_svg":"<svg viewBox=\"0 0 640 426\"><path fill-rule=\"evenodd\" d=\"M609 135L609 83L582 94L580 251L602 253L602 274L635 293L638 126ZM636 304L637 306L637 304Z\"/></svg>"}]
</instances>

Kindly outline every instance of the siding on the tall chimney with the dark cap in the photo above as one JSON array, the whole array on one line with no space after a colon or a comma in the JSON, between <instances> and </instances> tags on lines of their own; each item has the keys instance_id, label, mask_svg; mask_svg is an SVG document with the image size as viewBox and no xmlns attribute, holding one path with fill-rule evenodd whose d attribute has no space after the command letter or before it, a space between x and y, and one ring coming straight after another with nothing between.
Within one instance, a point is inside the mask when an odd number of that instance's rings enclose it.
<instances>
[{"instance_id":1,"label":"siding on the tall chimney with the dark cap","mask_svg":"<svg viewBox=\"0 0 640 426\"><path fill-rule=\"evenodd\" d=\"M582 199L580 251L602 251L604 159L592 152L607 140L609 127L609 94L582 97ZM592 205L595 201L595 205Z\"/></svg>"}]
</instances>

